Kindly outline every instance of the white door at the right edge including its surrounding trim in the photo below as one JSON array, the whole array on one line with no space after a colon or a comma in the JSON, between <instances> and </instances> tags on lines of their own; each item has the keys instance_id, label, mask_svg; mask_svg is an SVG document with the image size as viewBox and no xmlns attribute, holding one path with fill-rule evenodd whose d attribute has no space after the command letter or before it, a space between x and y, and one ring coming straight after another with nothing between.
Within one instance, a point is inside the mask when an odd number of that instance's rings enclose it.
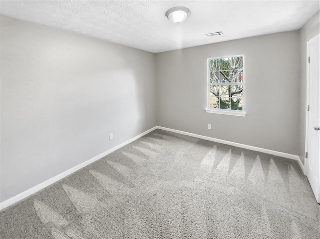
<instances>
[{"instance_id":1,"label":"white door at the right edge including its surrounding trim","mask_svg":"<svg viewBox=\"0 0 320 239\"><path fill-rule=\"evenodd\" d=\"M308 107L306 117L306 176L320 203L320 35L307 42L308 54Z\"/></svg>"}]
</instances>

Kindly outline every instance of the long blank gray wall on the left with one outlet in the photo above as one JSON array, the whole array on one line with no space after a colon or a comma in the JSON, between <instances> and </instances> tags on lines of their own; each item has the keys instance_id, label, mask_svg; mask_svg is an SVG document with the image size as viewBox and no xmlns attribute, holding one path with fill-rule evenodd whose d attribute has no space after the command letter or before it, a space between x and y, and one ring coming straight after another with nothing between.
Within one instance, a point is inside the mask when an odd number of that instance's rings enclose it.
<instances>
[{"instance_id":1,"label":"long blank gray wall on the left with one outlet","mask_svg":"<svg viewBox=\"0 0 320 239\"><path fill-rule=\"evenodd\" d=\"M1 201L154 127L154 63L1 16Z\"/></svg>"}]
</instances>

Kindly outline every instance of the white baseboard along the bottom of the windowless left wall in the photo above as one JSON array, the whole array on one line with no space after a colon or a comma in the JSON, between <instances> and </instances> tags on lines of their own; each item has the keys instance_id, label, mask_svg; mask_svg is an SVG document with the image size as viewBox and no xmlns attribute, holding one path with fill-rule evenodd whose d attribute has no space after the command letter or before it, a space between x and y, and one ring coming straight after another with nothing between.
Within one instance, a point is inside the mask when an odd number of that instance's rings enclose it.
<instances>
[{"instance_id":1,"label":"white baseboard along the bottom of the windowless left wall","mask_svg":"<svg viewBox=\"0 0 320 239\"><path fill-rule=\"evenodd\" d=\"M74 173L75 171L77 171L77 170L79 170L79 169L81 169L81 168L93 163L94 161L96 161L98 159L103 158L104 156L114 152L115 150L117 150L117 149L119 149L119 148L121 148L121 147L123 147L123 146L125 146L125 145L127 145L127 144L129 144L131 142L133 142L134 140L137 140L138 138L150 133L151 131L155 130L156 128L157 127L155 126L155 127L151 128L151 129L149 129L149 130L147 130L147 131L145 131L145 132L143 132L143 133L141 133L141 134L139 134L139 135L137 135L137 136L135 136L135 137L133 137L133 138L131 138L131 139L129 139L129 140L117 145L117 146L115 146L115 147L113 147L112 149L109 149L109 150L103 152L102 154L99 154L99 155L97 155L97 156L95 156L95 157L93 157L93 158L91 158L91 159L89 159L89 160L87 160L87 161L85 161L85 162L83 162L81 164L78 164L78 165L74 166L71 169L68 169L68 170L64 171L63 173L61 173L61 174L59 174L57 176L54 176L53 178L50 178L50 179L44 181L43 183L40 183L40 184L38 184L38 185L36 185L36 186L34 186L34 187L32 187L32 188L20 193L20 194L14 196L12 198L9 198L9 199L3 201L0 204L0 208L4 209L4 208L6 208L6 207L8 207L8 206L10 206L10 205L22 200L22 199L30 196L31 194L34 194L34 193L38 192L39 190L41 190L41 189L43 189L43 188L45 188L45 187L57 182L58 180L60 180L60 179L62 179L64 177Z\"/></svg>"}]
</instances>

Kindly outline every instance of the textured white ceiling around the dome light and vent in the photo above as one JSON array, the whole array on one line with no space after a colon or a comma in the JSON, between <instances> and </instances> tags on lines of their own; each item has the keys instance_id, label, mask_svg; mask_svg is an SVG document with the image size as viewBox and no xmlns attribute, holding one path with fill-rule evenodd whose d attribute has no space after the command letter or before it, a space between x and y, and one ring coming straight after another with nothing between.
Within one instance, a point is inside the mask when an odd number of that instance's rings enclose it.
<instances>
[{"instance_id":1,"label":"textured white ceiling around the dome light and vent","mask_svg":"<svg viewBox=\"0 0 320 239\"><path fill-rule=\"evenodd\" d=\"M173 24L165 12L191 15ZM74 31L149 52L300 29L320 9L314 1L3 1L1 14ZM222 31L222 36L205 34Z\"/></svg>"}]
</instances>

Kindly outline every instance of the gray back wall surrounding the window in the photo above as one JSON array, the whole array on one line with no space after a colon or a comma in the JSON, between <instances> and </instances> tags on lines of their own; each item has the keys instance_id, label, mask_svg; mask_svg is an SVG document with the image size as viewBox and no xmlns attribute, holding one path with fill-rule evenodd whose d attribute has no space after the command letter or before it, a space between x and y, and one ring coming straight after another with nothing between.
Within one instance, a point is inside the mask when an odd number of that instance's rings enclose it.
<instances>
[{"instance_id":1,"label":"gray back wall surrounding the window","mask_svg":"<svg viewBox=\"0 0 320 239\"><path fill-rule=\"evenodd\" d=\"M298 155L299 47L292 31L156 54L157 124ZM246 117L206 113L207 58L241 54Z\"/></svg>"}]
</instances>

